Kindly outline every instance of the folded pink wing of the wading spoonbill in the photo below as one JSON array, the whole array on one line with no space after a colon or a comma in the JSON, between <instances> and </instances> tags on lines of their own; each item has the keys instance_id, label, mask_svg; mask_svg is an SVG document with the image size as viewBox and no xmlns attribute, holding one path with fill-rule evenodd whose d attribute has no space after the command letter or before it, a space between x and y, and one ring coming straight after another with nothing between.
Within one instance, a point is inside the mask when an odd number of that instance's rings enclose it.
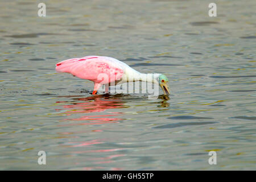
<instances>
[{"instance_id":1,"label":"folded pink wing of the wading spoonbill","mask_svg":"<svg viewBox=\"0 0 256 182\"><path fill-rule=\"evenodd\" d=\"M76 77L102 84L119 80L123 76L123 69L120 65L101 56L64 60L56 64L56 71L71 73Z\"/></svg>"}]
</instances>

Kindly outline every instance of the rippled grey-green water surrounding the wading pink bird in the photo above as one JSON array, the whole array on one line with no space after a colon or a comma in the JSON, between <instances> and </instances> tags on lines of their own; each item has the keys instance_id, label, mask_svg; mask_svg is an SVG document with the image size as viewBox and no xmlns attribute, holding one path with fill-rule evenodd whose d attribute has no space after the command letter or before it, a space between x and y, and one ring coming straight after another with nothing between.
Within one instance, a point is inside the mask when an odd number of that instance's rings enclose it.
<instances>
[{"instance_id":1,"label":"rippled grey-green water surrounding the wading pink bird","mask_svg":"<svg viewBox=\"0 0 256 182\"><path fill-rule=\"evenodd\" d=\"M256 169L255 1L0 2L0 169ZM172 94L92 96L55 72L104 55ZM38 165L38 151L47 164ZM208 152L217 152L217 165Z\"/></svg>"}]
</instances>

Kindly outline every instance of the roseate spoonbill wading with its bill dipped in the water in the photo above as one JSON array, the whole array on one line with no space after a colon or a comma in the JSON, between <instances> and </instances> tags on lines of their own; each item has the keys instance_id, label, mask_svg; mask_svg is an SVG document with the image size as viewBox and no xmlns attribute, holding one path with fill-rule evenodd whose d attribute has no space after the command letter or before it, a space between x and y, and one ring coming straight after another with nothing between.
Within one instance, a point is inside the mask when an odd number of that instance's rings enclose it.
<instances>
[{"instance_id":1,"label":"roseate spoonbill wading with its bill dipped in the water","mask_svg":"<svg viewBox=\"0 0 256 182\"><path fill-rule=\"evenodd\" d=\"M94 82L93 95L97 90L105 85L105 92L108 92L110 83L113 85L122 84L129 81L146 81L159 84L165 95L170 94L168 78L159 73L140 73L129 65L105 56L85 56L61 61L56 64L56 71L71 73L73 76L91 80ZM107 77L102 78L102 75ZM148 79L152 77L152 79Z\"/></svg>"}]
</instances>

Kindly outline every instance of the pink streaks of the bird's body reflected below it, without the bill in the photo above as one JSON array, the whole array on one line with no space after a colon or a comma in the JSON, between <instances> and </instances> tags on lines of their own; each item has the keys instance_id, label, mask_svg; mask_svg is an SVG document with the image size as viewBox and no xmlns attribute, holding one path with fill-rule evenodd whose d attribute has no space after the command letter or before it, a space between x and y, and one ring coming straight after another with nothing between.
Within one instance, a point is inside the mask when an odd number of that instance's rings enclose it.
<instances>
[{"instance_id":1,"label":"pink streaks of the bird's body reflected below it, without the bill","mask_svg":"<svg viewBox=\"0 0 256 182\"><path fill-rule=\"evenodd\" d=\"M58 101L56 103L63 103L63 109L56 109L56 111L63 110L68 118L65 118L61 121L64 125L59 126L82 126L82 125L106 125L107 123L118 123L122 118L117 118L120 116L121 112L111 111L111 109L118 109L127 107L123 105L123 101L119 98L109 98L106 96L92 96L81 98L74 98L75 96L63 96L63 97L72 97L72 101ZM107 112L107 113L106 113ZM92 115L97 114L97 115ZM73 116L72 118L69 116ZM75 116L75 117L74 117ZM92 132L104 132L104 130L91 130ZM62 132L60 135L70 135L84 133L85 131L75 131L75 132ZM100 133L96 134L97 137L100 137ZM104 143L104 139L93 139L86 141L75 141L69 142L66 144L66 147L74 147L80 149L80 151L72 151L72 154L86 154L86 153L98 153L100 155L98 158L90 158L93 160L94 164L108 164L114 163L114 158L122 157L123 154L114 154L116 151L123 150L123 148L108 148L102 149L101 145L95 146L96 144ZM88 150L90 148L91 150ZM97 148L98 150L92 150ZM109 156L106 156L110 152ZM104 156L102 156L104 154ZM85 170L92 169L101 169L103 167L84 167ZM119 170L121 168L111 167L112 170Z\"/></svg>"}]
</instances>

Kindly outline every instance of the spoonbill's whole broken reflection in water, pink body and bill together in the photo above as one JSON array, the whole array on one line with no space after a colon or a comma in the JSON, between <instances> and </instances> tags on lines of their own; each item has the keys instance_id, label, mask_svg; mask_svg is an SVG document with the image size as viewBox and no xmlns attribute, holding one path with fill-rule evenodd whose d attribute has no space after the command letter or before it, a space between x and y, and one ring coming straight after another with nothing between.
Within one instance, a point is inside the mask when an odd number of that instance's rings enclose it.
<instances>
[{"instance_id":1,"label":"spoonbill's whole broken reflection in water, pink body and bill together","mask_svg":"<svg viewBox=\"0 0 256 182\"><path fill-rule=\"evenodd\" d=\"M101 132L104 129L94 129L92 125L101 125L105 126L106 123L118 123L123 119L121 111L123 108L129 107L127 102L133 102L134 98L129 100L129 96L125 96L123 94L115 94L111 96L109 94L104 95L96 95L90 97L81 97L81 96L60 96L64 98L71 98L69 101L58 101L56 103L63 103L61 105L63 109L62 114L65 114L68 118L63 119L62 121L67 122L65 125L59 126L67 126L67 130L65 132L59 133L60 137L63 135L74 136L72 140L68 140L68 142L63 143L65 147L71 147L74 150L69 150L69 155L90 155L92 157L86 158L86 163L82 162L83 160L76 161L74 166L85 169L109 169L102 165L105 163L114 163L119 159L125 158L126 154L123 153L123 148L106 147L105 142L108 140L104 138L104 135L94 135L95 138L84 139L84 137L80 137L84 135L84 133L88 132ZM146 99L146 98L138 98L138 100ZM160 101L159 101L160 100ZM168 107L168 96L159 96L158 100L153 101L158 107ZM152 104L152 102L150 101ZM114 111L111 111L115 109ZM126 109L125 109L126 110ZM102 114L100 114L102 113ZM75 117L72 117L75 116ZM79 125L90 125L92 127L85 127L82 131L77 131L75 126ZM73 127L72 127L73 126ZM89 129L89 131L88 131ZM93 130L92 130L93 129ZM71 131L72 130L72 131ZM75 130L75 131L74 131ZM88 163L89 161L89 163ZM110 170L118 170L122 168L110 168Z\"/></svg>"}]
</instances>

